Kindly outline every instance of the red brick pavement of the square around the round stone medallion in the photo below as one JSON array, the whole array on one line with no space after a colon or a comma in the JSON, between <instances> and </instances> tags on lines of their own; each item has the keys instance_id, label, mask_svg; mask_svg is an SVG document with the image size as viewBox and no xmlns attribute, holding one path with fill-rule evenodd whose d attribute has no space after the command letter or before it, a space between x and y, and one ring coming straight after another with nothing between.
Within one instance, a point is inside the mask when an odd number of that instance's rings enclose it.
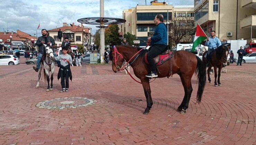
<instances>
[{"instance_id":1,"label":"red brick pavement of the square around the round stone medallion","mask_svg":"<svg viewBox=\"0 0 256 145\"><path fill-rule=\"evenodd\" d=\"M68 93L58 93L57 73L54 90L46 92L44 81L35 88L32 66L0 66L0 144L256 144L256 64L227 68L222 87L207 83L201 104L196 104L193 77L184 115L176 112L184 96L179 76L156 79L151 83L154 105L143 115L142 86L109 65L72 67ZM64 97L97 103L63 110L36 107Z\"/></svg>"}]
</instances>

